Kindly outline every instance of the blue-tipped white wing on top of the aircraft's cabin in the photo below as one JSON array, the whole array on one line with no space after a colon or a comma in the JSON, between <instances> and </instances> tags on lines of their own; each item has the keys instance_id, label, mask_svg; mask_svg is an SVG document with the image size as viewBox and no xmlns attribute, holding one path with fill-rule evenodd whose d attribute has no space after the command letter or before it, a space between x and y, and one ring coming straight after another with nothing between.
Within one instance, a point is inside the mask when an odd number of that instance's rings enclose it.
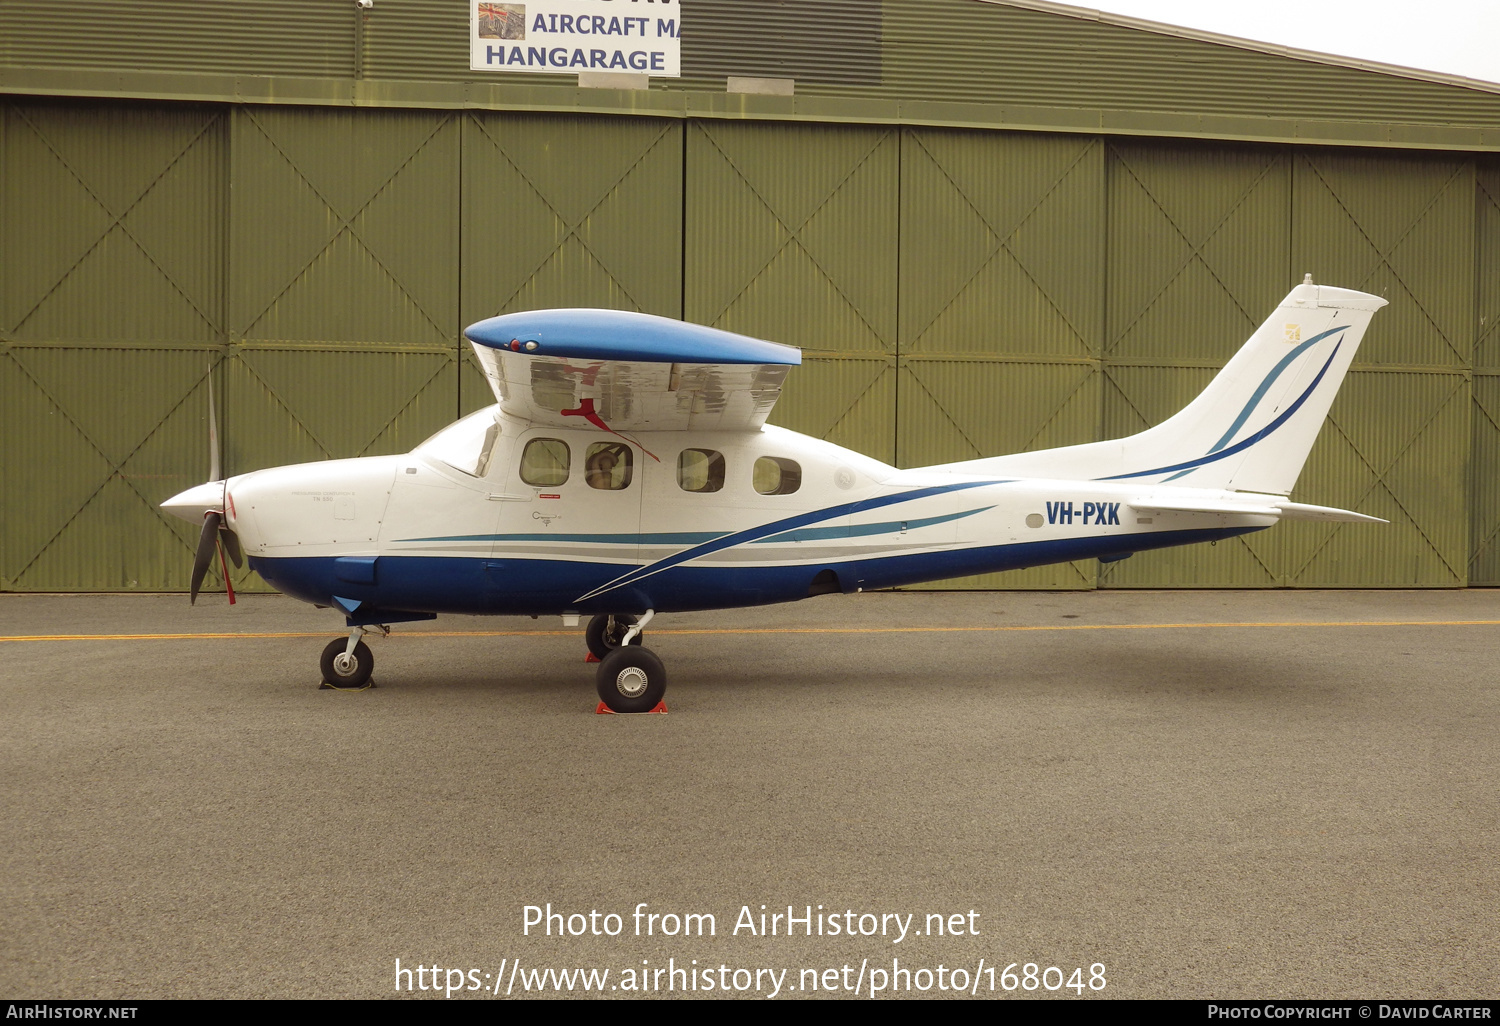
<instances>
[{"instance_id":1,"label":"blue-tipped white wing on top of the aircraft's cabin","mask_svg":"<svg viewBox=\"0 0 1500 1026\"><path fill-rule=\"evenodd\" d=\"M754 430L800 350L627 310L532 310L472 324L506 412L537 424L608 430Z\"/></svg>"}]
</instances>

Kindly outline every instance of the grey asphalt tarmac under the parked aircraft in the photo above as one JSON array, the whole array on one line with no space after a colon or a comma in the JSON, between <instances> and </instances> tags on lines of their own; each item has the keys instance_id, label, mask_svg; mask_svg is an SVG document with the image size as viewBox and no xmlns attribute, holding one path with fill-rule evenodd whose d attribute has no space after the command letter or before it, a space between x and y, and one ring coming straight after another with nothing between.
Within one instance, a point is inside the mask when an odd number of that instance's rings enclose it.
<instances>
[{"instance_id":1,"label":"grey asphalt tarmac under the parked aircraft","mask_svg":"<svg viewBox=\"0 0 1500 1026\"><path fill-rule=\"evenodd\" d=\"M0 998L1497 993L1497 591L663 615L666 716L556 618L339 633L0 596Z\"/></svg>"}]
</instances>

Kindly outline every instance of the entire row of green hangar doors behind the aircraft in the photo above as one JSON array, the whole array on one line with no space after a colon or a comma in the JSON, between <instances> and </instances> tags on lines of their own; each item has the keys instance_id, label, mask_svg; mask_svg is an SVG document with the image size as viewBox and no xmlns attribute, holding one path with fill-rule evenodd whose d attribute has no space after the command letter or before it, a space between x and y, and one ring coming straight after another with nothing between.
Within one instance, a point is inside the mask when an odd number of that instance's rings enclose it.
<instances>
[{"instance_id":1,"label":"entire row of green hangar doors behind the aircraft","mask_svg":"<svg viewBox=\"0 0 1500 1026\"><path fill-rule=\"evenodd\" d=\"M644 309L804 346L772 420L909 466L1155 423L1305 270L1392 306L1298 496L1389 526L1287 524L963 586L1500 584L1494 156L561 112L0 110L4 590L186 590L195 532L154 504L207 471L210 375L230 472L399 452L489 400L464 324Z\"/></svg>"}]
</instances>

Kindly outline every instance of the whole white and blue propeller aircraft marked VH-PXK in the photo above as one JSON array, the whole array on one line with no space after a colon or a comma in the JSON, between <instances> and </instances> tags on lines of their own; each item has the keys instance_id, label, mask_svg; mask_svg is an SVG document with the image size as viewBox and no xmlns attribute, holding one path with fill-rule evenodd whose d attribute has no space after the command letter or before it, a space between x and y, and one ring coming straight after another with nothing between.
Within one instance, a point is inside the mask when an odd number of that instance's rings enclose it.
<instances>
[{"instance_id":1,"label":"whole white and blue propeller aircraft marked VH-PXK","mask_svg":"<svg viewBox=\"0 0 1500 1026\"><path fill-rule=\"evenodd\" d=\"M1287 496L1382 306L1308 276L1156 428L920 470L768 426L795 348L644 314L507 314L465 332L498 405L404 456L254 471L162 506L202 524L194 598L222 542L345 614L328 682L366 682L362 636L392 622L591 615L600 698L648 711L666 672L640 632L660 612L1377 520Z\"/></svg>"}]
</instances>

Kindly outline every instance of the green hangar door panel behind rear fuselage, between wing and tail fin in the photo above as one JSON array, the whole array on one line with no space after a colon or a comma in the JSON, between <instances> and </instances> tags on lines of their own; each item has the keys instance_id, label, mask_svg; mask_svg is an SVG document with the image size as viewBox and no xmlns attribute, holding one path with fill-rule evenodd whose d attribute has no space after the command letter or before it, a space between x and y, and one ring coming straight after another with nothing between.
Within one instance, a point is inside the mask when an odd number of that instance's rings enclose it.
<instances>
[{"instance_id":1,"label":"green hangar door panel behind rear fuselage, between wing and tail fin","mask_svg":"<svg viewBox=\"0 0 1500 1026\"><path fill-rule=\"evenodd\" d=\"M1100 432L1104 146L1090 136L902 136L902 466ZM1094 560L944 588L1092 588Z\"/></svg>"}]
</instances>

